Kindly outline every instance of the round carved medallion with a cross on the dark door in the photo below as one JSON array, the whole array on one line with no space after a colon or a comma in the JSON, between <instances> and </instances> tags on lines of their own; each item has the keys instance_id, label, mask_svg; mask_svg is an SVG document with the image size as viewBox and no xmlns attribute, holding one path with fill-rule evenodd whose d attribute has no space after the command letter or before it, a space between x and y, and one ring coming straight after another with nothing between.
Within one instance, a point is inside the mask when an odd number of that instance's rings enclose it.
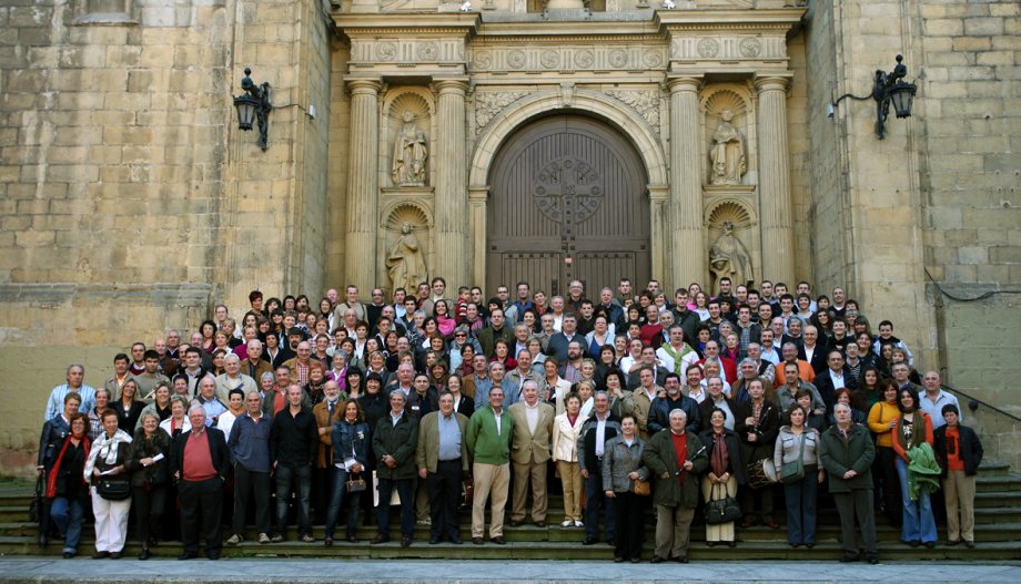
<instances>
[{"instance_id":1,"label":"round carved medallion with a cross on the dark door","mask_svg":"<svg viewBox=\"0 0 1021 584\"><path fill-rule=\"evenodd\" d=\"M532 196L543 215L562 223L580 223L603 204L603 177L585 161L557 158L535 176Z\"/></svg>"}]
</instances>

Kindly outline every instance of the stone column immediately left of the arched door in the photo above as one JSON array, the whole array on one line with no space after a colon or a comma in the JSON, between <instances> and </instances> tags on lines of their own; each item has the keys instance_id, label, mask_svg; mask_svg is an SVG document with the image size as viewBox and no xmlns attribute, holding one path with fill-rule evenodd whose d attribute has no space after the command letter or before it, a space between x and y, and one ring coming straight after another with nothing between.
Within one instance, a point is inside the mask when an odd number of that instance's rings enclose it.
<instances>
[{"instance_id":1,"label":"stone column immediately left of the arched door","mask_svg":"<svg viewBox=\"0 0 1021 584\"><path fill-rule=\"evenodd\" d=\"M433 273L443 276L447 287L468 283L465 239L469 217L467 170L465 167L464 79L438 79L434 88L439 94L436 131L436 248Z\"/></svg>"}]
</instances>

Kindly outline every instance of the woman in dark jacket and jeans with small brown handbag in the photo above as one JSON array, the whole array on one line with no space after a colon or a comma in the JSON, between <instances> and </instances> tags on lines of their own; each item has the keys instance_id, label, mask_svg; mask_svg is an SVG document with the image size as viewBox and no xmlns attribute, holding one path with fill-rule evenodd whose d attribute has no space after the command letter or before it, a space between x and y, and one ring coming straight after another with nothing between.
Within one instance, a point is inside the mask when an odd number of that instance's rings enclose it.
<instances>
[{"instance_id":1,"label":"woman in dark jacket and jeans with small brown handbag","mask_svg":"<svg viewBox=\"0 0 1021 584\"><path fill-rule=\"evenodd\" d=\"M326 547L333 545L333 531L336 527L337 514L344 504L344 495L351 494L347 514L347 541L357 543L355 535L358 529L358 494L365 491L366 465L368 464L368 424L365 414L356 400L348 399L344 402L344 417L333 424L331 442L333 443L333 493L330 496L330 506L326 509L326 532L324 543Z\"/></svg>"}]
</instances>

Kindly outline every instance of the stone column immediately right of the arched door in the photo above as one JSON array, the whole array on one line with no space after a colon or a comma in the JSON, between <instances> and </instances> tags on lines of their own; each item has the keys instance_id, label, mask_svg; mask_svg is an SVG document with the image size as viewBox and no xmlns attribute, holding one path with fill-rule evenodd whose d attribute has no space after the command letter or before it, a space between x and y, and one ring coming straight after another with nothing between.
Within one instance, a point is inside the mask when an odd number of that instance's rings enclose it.
<instances>
[{"instance_id":1,"label":"stone column immediately right of the arched door","mask_svg":"<svg viewBox=\"0 0 1021 584\"><path fill-rule=\"evenodd\" d=\"M701 79L675 78L670 86L670 289L691 281L706 283L706 245L702 237L701 144L698 89ZM653 277L658 275L654 274Z\"/></svg>"}]
</instances>

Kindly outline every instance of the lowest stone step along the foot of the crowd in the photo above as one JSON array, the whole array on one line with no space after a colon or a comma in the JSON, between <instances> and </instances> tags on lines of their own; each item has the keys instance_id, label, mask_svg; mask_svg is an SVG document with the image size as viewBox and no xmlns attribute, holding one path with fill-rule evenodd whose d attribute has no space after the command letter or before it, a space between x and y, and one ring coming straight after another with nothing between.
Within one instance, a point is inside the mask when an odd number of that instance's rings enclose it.
<instances>
[{"instance_id":1,"label":"lowest stone step along the foot of the crowd","mask_svg":"<svg viewBox=\"0 0 1021 584\"><path fill-rule=\"evenodd\" d=\"M127 557L138 554L140 546L129 542L124 549ZM43 555L59 556L61 547L52 543L40 550L32 537L0 536L0 555ZM80 555L89 555L91 547L82 542L79 546ZM179 544L158 545L152 549L154 557L174 557L181 553ZM819 542L815 549L791 549L784 542L745 542L740 541L736 547L709 547L705 543L694 542L689 550L691 561L720 561L720 560L837 560L842 554L841 546L836 541ZM646 542L646 560L651 557L651 543ZM964 546L937 545L934 549L909 547L900 543L884 543L880 545L880 555L887 561L989 561L989 560L1021 560L1021 542L980 543L974 549ZM464 545L442 543L429 545L426 541L416 540L411 547L401 547L400 543L391 541L386 544L370 545L366 541L356 544L337 542L333 547L324 547L322 542L295 543L285 542L265 544L244 542L237 546L224 546L224 557L352 557L352 559L435 559L435 560L598 560L608 561L613 550L606 544L590 546L575 543L556 542L515 542L508 541L506 545L496 545L486 541L484 545Z\"/></svg>"}]
</instances>

